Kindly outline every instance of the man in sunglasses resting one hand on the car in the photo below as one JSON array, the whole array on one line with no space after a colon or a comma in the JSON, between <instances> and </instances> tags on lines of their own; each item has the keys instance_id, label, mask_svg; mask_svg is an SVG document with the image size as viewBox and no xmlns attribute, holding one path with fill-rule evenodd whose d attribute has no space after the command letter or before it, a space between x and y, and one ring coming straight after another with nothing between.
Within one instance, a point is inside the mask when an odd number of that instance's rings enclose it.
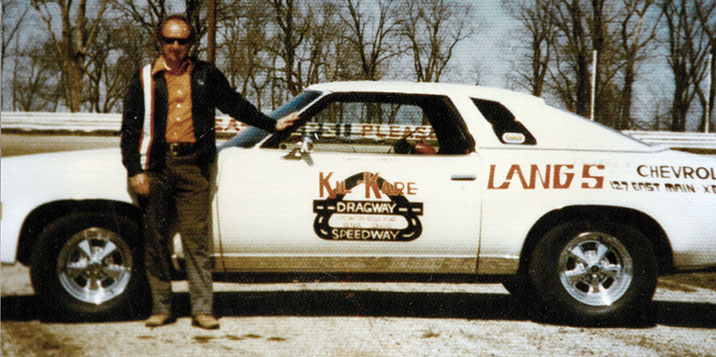
<instances>
[{"instance_id":1,"label":"man in sunglasses resting one hand on the car","mask_svg":"<svg viewBox=\"0 0 716 357\"><path fill-rule=\"evenodd\" d=\"M186 258L192 323L219 327L213 316L209 238L209 166L216 156L216 108L247 124L280 131L298 119L274 121L229 86L213 65L187 56L193 42L184 16L172 15L157 29L161 56L127 89L122 117L122 163L129 186L144 205L145 265L152 292L146 326L171 317L169 217L176 214Z\"/></svg>"}]
</instances>

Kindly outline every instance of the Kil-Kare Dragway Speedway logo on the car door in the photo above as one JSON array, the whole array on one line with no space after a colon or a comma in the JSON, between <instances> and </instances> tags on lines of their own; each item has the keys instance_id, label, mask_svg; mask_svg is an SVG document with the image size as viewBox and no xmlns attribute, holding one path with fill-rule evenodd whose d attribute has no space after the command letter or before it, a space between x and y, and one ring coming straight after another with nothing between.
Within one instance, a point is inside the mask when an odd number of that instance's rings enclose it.
<instances>
[{"instance_id":1,"label":"Kil-Kare Dragway Speedway logo on the car door","mask_svg":"<svg viewBox=\"0 0 716 357\"><path fill-rule=\"evenodd\" d=\"M406 194L414 194L417 190L414 183L389 183L378 174L362 172L350 176L344 181L335 182L335 187L328 183L331 175L319 177L320 195L324 191L328 197L323 200L313 201L313 212L316 219L313 221L313 229L316 234L326 240L362 240L362 241L412 241L420 237L423 232L423 225L418 216L423 215L423 204L410 202ZM381 198L381 193L390 198L390 201L349 201L344 200L346 194L356 186L364 184L366 199L371 194ZM334 214L357 215L362 217L380 216L402 216L407 226L402 229L389 227L332 227L331 216Z\"/></svg>"}]
</instances>

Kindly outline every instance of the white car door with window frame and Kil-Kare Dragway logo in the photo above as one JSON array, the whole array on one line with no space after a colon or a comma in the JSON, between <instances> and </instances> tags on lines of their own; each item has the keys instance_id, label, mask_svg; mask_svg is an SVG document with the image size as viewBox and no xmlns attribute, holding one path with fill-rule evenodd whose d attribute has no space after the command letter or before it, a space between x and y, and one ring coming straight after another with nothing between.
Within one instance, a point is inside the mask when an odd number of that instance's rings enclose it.
<instances>
[{"instance_id":1,"label":"white car door with window frame and Kil-Kare Dragway logo","mask_svg":"<svg viewBox=\"0 0 716 357\"><path fill-rule=\"evenodd\" d=\"M448 98L331 94L301 118L220 155L226 269L475 271L484 178Z\"/></svg>"}]
</instances>

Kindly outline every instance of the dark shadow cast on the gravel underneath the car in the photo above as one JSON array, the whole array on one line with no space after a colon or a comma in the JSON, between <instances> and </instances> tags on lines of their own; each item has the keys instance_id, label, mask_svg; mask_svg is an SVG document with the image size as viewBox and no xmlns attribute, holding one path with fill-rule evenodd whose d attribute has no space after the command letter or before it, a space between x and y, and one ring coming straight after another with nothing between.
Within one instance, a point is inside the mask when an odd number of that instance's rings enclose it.
<instances>
[{"instance_id":1,"label":"dark shadow cast on the gravel underneath the car","mask_svg":"<svg viewBox=\"0 0 716 357\"><path fill-rule=\"evenodd\" d=\"M365 316L535 320L528 304L506 294L403 293L374 291L217 292L214 310L222 318L253 316ZM7 296L0 321L57 321L35 296ZM188 293L174 295L177 317L190 316ZM658 325L716 329L716 304L654 302ZM128 318L118 317L117 320ZM129 318L132 320L132 318ZM538 321L538 320L535 320ZM539 321L542 322L542 321ZM653 324L648 325L653 326ZM636 325L633 327L645 327Z\"/></svg>"}]
</instances>

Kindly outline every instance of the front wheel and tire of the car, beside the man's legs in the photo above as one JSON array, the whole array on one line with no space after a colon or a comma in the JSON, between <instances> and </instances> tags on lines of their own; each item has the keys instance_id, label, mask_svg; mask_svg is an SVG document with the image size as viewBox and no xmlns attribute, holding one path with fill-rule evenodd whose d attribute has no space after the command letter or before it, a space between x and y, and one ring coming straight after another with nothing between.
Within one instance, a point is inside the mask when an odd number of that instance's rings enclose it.
<instances>
[{"instance_id":1,"label":"front wheel and tire of the car, beside the man's legs","mask_svg":"<svg viewBox=\"0 0 716 357\"><path fill-rule=\"evenodd\" d=\"M140 232L135 220L102 213L72 214L49 224L30 262L44 306L72 320L145 315L150 305Z\"/></svg>"}]
</instances>

